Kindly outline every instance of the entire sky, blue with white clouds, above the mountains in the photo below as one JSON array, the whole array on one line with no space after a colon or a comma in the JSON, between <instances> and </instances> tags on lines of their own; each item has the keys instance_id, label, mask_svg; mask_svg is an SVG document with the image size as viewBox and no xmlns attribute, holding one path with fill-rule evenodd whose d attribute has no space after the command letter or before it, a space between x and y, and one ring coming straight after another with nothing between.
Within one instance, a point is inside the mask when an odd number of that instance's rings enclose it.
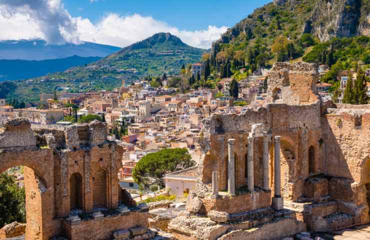
<instances>
[{"instance_id":1,"label":"entire sky, blue with white clouds, above the mountains","mask_svg":"<svg viewBox=\"0 0 370 240\"><path fill-rule=\"evenodd\" d=\"M0 40L42 38L124 47L157 32L209 48L271 0L0 0Z\"/></svg>"}]
</instances>

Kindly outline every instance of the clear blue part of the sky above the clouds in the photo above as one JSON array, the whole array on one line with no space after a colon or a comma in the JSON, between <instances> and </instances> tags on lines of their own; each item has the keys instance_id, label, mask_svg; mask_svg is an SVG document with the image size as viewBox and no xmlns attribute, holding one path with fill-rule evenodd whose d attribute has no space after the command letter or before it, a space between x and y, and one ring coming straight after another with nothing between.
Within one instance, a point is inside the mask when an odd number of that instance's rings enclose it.
<instances>
[{"instance_id":1,"label":"clear blue part of the sky above the clouds","mask_svg":"<svg viewBox=\"0 0 370 240\"><path fill-rule=\"evenodd\" d=\"M72 16L96 22L107 13L152 16L179 29L232 26L271 0L64 0Z\"/></svg>"}]
</instances>

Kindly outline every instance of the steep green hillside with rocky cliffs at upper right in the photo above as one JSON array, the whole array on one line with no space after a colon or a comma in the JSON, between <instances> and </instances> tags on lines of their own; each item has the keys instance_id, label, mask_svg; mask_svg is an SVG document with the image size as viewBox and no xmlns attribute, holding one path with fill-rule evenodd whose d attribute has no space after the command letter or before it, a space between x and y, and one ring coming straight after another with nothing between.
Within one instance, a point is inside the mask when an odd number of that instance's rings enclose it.
<instances>
[{"instance_id":1,"label":"steep green hillside with rocky cliffs at upper right","mask_svg":"<svg viewBox=\"0 0 370 240\"><path fill-rule=\"evenodd\" d=\"M335 84L339 70L370 63L369 11L369 0L274 0L212 44L207 79L214 85L222 77L242 79L276 61L304 60L328 64L332 70L323 80ZM240 73L241 68L248 71Z\"/></svg>"}]
</instances>

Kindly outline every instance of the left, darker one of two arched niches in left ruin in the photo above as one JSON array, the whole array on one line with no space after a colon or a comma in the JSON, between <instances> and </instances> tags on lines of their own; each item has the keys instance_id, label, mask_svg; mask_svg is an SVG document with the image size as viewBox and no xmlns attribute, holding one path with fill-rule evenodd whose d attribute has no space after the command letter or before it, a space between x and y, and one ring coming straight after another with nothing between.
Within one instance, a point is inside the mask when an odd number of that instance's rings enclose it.
<instances>
[{"instance_id":1,"label":"left, darker one of two arched niches in left ruin","mask_svg":"<svg viewBox=\"0 0 370 240\"><path fill-rule=\"evenodd\" d=\"M83 209L82 176L78 172L73 173L69 179L69 202L71 210Z\"/></svg>"}]
</instances>

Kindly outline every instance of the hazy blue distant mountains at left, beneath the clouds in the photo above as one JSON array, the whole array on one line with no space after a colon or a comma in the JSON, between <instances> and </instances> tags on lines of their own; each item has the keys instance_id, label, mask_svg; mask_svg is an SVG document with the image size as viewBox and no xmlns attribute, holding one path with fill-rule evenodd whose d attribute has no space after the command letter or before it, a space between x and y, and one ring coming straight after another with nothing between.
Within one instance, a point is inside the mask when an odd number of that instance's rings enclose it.
<instances>
[{"instance_id":1,"label":"hazy blue distant mountains at left, beneath the clouds","mask_svg":"<svg viewBox=\"0 0 370 240\"><path fill-rule=\"evenodd\" d=\"M0 81L64 71L97 61L119 49L92 42L52 45L39 39L0 41Z\"/></svg>"}]
</instances>

